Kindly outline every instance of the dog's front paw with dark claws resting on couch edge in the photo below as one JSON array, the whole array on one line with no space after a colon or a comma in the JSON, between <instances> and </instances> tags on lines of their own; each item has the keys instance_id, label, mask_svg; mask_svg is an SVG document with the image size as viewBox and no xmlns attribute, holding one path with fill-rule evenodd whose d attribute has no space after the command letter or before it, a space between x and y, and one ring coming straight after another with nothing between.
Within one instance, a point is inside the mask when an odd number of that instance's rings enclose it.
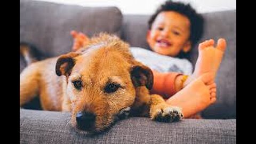
<instances>
[{"instance_id":1,"label":"dog's front paw with dark claws resting on couch edge","mask_svg":"<svg viewBox=\"0 0 256 144\"><path fill-rule=\"evenodd\" d=\"M158 122L178 122L183 117L179 107L158 108L151 113L151 119Z\"/></svg>"}]
</instances>

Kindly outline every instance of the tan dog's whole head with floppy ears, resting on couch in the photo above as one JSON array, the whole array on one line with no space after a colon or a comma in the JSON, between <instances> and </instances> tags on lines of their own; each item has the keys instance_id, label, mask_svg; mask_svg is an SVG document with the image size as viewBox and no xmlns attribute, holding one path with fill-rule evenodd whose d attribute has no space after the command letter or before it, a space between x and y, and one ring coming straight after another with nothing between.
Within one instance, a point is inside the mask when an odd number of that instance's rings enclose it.
<instances>
[{"instance_id":1,"label":"tan dog's whole head with floppy ears, resting on couch","mask_svg":"<svg viewBox=\"0 0 256 144\"><path fill-rule=\"evenodd\" d=\"M101 34L77 52L61 55L56 74L67 77L72 122L79 129L100 132L135 100L138 86L153 86L152 71L133 59L129 45Z\"/></svg>"}]
</instances>

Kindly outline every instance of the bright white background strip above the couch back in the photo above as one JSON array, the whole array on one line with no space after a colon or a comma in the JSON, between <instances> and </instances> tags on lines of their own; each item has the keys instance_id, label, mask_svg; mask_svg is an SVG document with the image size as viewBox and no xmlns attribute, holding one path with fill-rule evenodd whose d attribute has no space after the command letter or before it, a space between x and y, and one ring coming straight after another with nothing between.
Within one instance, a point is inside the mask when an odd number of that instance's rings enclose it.
<instances>
[{"instance_id":1,"label":"bright white background strip above the couch back","mask_svg":"<svg viewBox=\"0 0 256 144\"><path fill-rule=\"evenodd\" d=\"M37 0L81 6L116 6L123 14L153 14L165 0ZM190 3L197 12L236 10L236 0L180 0Z\"/></svg>"}]
</instances>

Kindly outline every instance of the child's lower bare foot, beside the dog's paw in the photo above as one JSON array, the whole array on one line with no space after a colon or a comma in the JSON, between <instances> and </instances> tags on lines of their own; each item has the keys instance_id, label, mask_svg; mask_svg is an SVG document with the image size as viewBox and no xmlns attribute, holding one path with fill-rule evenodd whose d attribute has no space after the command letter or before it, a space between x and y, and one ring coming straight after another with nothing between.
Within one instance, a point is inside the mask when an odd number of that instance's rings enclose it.
<instances>
[{"instance_id":1,"label":"child's lower bare foot, beside the dog's paw","mask_svg":"<svg viewBox=\"0 0 256 144\"><path fill-rule=\"evenodd\" d=\"M167 99L167 104L182 108L185 118L195 115L216 101L216 85L212 73L198 77L184 89Z\"/></svg>"}]
</instances>

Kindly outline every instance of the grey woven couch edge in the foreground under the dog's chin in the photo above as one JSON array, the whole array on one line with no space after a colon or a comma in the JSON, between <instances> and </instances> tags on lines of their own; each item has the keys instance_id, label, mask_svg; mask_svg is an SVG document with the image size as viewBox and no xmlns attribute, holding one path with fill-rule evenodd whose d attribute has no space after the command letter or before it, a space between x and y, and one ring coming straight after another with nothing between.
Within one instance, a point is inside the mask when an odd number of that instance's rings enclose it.
<instances>
[{"instance_id":1,"label":"grey woven couch edge in the foreground under the dog's chin","mask_svg":"<svg viewBox=\"0 0 256 144\"><path fill-rule=\"evenodd\" d=\"M132 117L91 136L72 129L70 113L21 109L20 143L236 143L236 119L159 123Z\"/></svg>"}]
</instances>

